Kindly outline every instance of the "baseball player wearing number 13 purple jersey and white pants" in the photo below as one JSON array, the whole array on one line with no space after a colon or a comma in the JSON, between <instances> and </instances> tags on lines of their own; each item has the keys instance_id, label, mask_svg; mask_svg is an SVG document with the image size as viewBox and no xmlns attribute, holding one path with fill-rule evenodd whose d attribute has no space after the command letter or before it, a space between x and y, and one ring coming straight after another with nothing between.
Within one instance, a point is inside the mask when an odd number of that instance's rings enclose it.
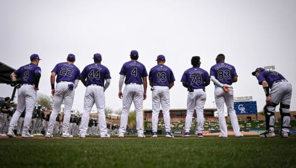
<instances>
[{"instance_id":1,"label":"baseball player wearing number 13 purple jersey and white pants","mask_svg":"<svg viewBox=\"0 0 296 168\"><path fill-rule=\"evenodd\" d=\"M166 65L165 56L157 56L157 65L152 67L149 72L149 85L152 87L152 135L151 138L157 138L157 125L160 105L165 124L165 137L174 138L171 133L170 118L170 91L173 87L175 77L173 71Z\"/></svg>"}]
</instances>

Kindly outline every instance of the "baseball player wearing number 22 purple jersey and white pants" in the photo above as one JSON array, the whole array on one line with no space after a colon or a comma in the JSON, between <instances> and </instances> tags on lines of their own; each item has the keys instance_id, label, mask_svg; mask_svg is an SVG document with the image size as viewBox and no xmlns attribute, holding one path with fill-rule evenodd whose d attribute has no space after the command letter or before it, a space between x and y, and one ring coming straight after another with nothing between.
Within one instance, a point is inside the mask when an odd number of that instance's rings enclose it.
<instances>
[{"instance_id":1,"label":"baseball player wearing number 22 purple jersey and white pants","mask_svg":"<svg viewBox=\"0 0 296 168\"><path fill-rule=\"evenodd\" d=\"M56 123L56 117L60 112L61 104L65 101L64 120L63 120L63 133L62 138L72 138L73 136L68 133L71 117L71 109L74 100L74 91L80 79L80 71L74 65L75 56L69 54L67 62L61 62L51 71L50 83L51 94L53 95L53 109L49 118L49 124L45 138L52 138L53 126ZM56 88L54 86L55 76L57 76Z\"/></svg>"}]
</instances>

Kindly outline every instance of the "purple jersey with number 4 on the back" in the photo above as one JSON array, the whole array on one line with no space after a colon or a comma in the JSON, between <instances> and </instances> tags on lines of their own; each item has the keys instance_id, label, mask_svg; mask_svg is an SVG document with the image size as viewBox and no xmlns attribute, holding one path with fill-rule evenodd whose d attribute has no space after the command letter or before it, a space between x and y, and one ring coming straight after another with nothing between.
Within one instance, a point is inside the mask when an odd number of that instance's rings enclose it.
<instances>
[{"instance_id":1,"label":"purple jersey with number 4 on the back","mask_svg":"<svg viewBox=\"0 0 296 168\"><path fill-rule=\"evenodd\" d=\"M119 72L120 75L125 75L124 83L143 84L143 77L147 77L146 67L139 61L128 61L122 65Z\"/></svg>"}]
</instances>

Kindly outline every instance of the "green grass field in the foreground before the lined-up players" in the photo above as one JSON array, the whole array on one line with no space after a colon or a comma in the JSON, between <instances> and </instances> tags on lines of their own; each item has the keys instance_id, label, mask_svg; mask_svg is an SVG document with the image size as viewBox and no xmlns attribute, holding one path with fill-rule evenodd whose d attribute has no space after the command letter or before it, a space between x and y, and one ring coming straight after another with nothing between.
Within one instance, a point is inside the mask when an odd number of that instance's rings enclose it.
<instances>
[{"instance_id":1,"label":"green grass field in the foreground before the lined-up players","mask_svg":"<svg viewBox=\"0 0 296 168\"><path fill-rule=\"evenodd\" d=\"M292 168L296 137L7 138L0 139L0 155L1 168Z\"/></svg>"}]
</instances>

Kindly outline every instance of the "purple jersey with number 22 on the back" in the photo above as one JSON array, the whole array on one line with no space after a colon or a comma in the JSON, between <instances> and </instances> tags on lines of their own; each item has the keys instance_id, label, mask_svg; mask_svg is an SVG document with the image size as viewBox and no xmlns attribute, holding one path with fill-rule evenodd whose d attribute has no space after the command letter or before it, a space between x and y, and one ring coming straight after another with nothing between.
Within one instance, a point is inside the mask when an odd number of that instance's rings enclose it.
<instances>
[{"instance_id":1,"label":"purple jersey with number 22 on the back","mask_svg":"<svg viewBox=\"0 0 296 168\"><path fill-rule=\"evenodd\" d=\"M55 72L57 75L56 82L68 81L74 83L75 80L80 80L80 71L72 63L61 62L56 64L51 72Z\"/></svg>"}]
</instances>

